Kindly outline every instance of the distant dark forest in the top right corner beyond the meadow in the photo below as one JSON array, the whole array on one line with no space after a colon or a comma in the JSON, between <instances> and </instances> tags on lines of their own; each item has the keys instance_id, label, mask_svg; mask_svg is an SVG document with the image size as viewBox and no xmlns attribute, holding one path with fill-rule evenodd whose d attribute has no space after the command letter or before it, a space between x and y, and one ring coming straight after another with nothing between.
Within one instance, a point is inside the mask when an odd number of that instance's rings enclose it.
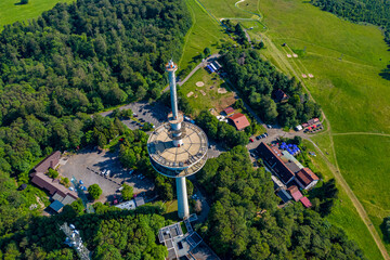
<instances>
[{"instance_id":1,"label":"distant dark forest in the top right corner beyond the meadow","mask_svg":"<svg viewBox=\"0 0 390 260\"><path fill-rule=\"evenodd\" d=\"M311 0L311 3L352 22L365 22L382 27L385 40L390 43L389 0Z\"/></svg>"}]
</instances>

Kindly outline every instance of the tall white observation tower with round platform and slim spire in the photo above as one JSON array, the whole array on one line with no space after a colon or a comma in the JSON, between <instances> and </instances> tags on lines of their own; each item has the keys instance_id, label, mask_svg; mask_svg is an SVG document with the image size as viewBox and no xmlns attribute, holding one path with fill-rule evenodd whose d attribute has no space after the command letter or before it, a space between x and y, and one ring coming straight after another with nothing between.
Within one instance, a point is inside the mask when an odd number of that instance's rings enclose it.
<instances>
[{"instance_id":1,"label":"tall white observation tower with round platform and slim spire","mask_svg":"<svg viewBox=\"0 0 390 260\"><path fill-rule=\"evenodd\" d=\"M170 61L166 65L169 75L169 88L172 112L168 121L154 130L147 140L147 151L153 168L158 173L176 178L178 192L178 214L190 217L185 178L195 174L207 160L208 141L205 132L197 126L184 121L178 110L178 98L174 72L178 66Z\"/></svg>"}]
</instances>

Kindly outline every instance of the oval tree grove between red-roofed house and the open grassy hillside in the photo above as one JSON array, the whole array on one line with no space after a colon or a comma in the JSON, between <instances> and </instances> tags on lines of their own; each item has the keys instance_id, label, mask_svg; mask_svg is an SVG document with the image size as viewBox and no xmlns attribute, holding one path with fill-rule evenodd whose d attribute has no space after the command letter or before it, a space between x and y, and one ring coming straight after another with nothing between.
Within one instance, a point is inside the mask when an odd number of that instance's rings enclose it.
<instances>
[{"instance_id":1,"label":"oval tree grove between red-roofed house and the open grassy hillside","mask_svg":"<svg viewBox=\"0 0 390 260\"><path fill-rule=\"evenodd\" d=\"M247 96L255 112L269 123L296 127L312 117L321 116L320 105L303 94L301 83L276 70L260 53L252 49L231 48L220 61L226 78ZM274 101L277 90L288 96L287 102Z\"/></svg>"}]
</instances>

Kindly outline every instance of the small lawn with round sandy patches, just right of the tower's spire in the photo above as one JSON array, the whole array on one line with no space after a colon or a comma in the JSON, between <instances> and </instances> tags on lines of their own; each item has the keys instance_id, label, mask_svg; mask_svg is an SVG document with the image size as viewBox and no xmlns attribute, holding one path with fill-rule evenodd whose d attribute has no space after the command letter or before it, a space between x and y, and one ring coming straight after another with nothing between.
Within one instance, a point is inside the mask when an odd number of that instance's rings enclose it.
<instances>
[{"instance_id":1,"label":"small lawn with round sandy patches, just right of the tower's spire","mask_svg":"<svg viewBox=\"0 0 390 260\"><path fill-rule=\"evenodd\" d=\"M196 87L196 82L198 81L204 82L205 86ZM223 94L218 93L219 88L225 88L227 92ZM188 81L180 87L179 91L194 108L193 116L198 115L203 109L212 107L220 113L235 102L234 93L230 92L229 84L226 84L218 75L209 74L204 68L199 68ZM202 91L204 91L206 95L203 95ZM187 96L191 92L193 94Z\"/></svg>"}]
</instances>

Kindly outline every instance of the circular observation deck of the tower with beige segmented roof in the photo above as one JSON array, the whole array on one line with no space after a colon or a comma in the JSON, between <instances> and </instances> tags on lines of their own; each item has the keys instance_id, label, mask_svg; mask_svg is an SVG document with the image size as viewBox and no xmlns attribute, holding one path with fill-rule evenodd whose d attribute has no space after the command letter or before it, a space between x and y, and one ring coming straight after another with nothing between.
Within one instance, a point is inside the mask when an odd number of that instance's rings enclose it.
<instances>
[{"instance_id":1,"label":"circular observation deck of the tower with beige segmented roof","mask_svg":"<svg viewBox=\"0 0 390 260\"><path fill-rule=\"evenodd\" d=\"M156 128L147 140L152 166L166 177L188 177L206 164L208 141L205 132L190 122L182 122L181 131L184 134L180 146L173 145L169 122Z\"/></svg>"}]
</instances>

